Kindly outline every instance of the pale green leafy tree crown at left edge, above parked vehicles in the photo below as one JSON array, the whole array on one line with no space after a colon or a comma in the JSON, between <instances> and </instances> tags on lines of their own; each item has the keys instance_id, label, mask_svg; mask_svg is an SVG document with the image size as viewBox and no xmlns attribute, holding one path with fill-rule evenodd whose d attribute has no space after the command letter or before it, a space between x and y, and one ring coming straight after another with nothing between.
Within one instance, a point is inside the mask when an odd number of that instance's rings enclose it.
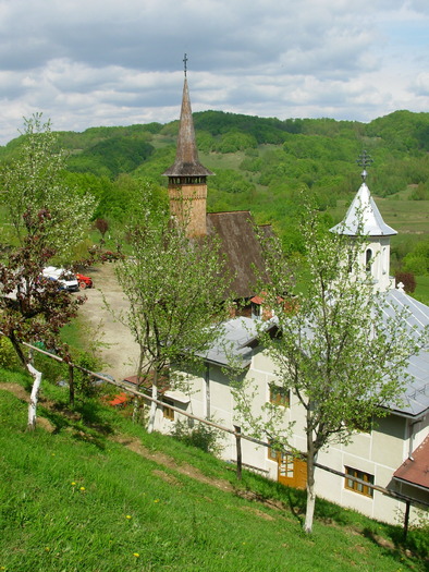
<instances>
[{"instance_id":1,"label":"pale green leafy tree crown at left edge, above parked vehicles","mask_svg":"<svg viewBox=\"0 0 429 572\"><path fill-rule=\"evenodd\" d=\"M24 120L24 129L19 153L1 172L2 202L14 234L5 242L17 239L23 244L29 232L24 215L36 220L45 211L45 240L57 256L65 257L84 239L95 198L65 184L64 153L57 149L50 121L35 114Z\"/></svg>"}]
</instances>

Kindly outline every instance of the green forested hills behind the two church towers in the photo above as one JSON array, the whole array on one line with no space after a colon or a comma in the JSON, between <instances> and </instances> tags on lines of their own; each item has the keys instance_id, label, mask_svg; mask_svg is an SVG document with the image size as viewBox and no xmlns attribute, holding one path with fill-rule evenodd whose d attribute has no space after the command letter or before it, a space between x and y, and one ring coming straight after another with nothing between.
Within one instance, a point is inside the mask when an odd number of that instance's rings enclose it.
<instances>
[{"instance_id":1,"label":"green forested hills behind the two church towers","mask_svg":"<svg viewBox=\"0 0 429 572\"><path fill-rule=\"evenodd\" d=\"M366 124L204 111L194 122L200 160L216 173L209 210L252 209L258 222L274 223L291 250L299 250L296 193L311 192L336 221L358 188L356 159L364 149L373 159L372 194L401 198L405 210L416 210L406 233L429 233L429 113L395 111ZM121 223L142 179L166 186L161 173L174 161L177 130L173 121L59 132L59 145L70 153L64 177L98 196L98 217ZM0 161L13 157L20 141L0 147Z\"/></svg>"}]
</instances>

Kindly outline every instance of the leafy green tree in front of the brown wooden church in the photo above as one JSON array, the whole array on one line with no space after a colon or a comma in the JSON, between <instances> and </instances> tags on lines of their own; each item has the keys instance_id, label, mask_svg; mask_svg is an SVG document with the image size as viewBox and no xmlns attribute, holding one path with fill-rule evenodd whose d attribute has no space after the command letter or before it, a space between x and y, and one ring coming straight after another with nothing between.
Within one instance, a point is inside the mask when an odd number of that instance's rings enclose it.
<instances>
[{"instance_id":1,"label":"leafy green tree in front of the brown wooden church","mask_svg":"<svg viewBox=\"0 0 429 572\"><path fill-rule=\"evenodd\" d=\"M146 185L130 223L131 257L115 268L130 301L130 311L119 319L139 345L138 375L150 376L155 398L161 373L171 364L201 362L195 352L201 355L220 336L228 313L223 301L231 278L219 242L189 240L187 205L177 207L182 212L172 221ZM150 424L154 419L152 404Z\"/></svg>"}]
</instances>

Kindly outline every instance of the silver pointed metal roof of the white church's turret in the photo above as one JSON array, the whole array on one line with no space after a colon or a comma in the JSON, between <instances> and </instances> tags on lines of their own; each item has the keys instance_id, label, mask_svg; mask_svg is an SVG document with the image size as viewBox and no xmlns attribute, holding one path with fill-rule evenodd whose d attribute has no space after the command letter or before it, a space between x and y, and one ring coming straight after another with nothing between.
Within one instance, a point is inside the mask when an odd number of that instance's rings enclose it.
<instances>
[{"instance_id":1,"label":"silver pointed metal roof of the white church's turret","mask_svg":"<svg viewBox=\"0 0 429 572\"><path fill-rule=\"evenodd\" d=\"M360 228L361 227L361 228ZM392 236L397 232L383 221L383 218L364 182L356 193L347 214L340 224L332 227L331 232L347 236Z\"/></svg>"}]
</instances>

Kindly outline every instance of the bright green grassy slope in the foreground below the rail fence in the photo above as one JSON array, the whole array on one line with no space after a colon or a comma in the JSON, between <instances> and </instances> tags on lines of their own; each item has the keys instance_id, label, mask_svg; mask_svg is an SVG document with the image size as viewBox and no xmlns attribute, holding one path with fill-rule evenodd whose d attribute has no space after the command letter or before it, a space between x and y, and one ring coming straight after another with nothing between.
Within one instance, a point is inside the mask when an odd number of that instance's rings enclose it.
<instances>
[{"instance_id":1,"label":"bright green grassy slope in the foreground below the rail fence","mask_svg":"<svg viewBox=\"0 0 429 572\"><path fill-rule=\"evenodd\" d=\"M1 381L25 385L25 378L4 370ZM163 452L177 466L191 463L238 486L231 470L210 455L149 436L94 403L65 416L63 390L48 382L44 395L51 406L41 403L40 414L56 430L28 434L25 403L0 382L0 570L425 569L393 548L394 527L319 501L315 532L307 537L301 530L301 494L245 475L241 487L280 499L293 511L249 502L156 462ZM108 438L118 433L137 436L154 458Z\"/></svg>"}]
</instances>

